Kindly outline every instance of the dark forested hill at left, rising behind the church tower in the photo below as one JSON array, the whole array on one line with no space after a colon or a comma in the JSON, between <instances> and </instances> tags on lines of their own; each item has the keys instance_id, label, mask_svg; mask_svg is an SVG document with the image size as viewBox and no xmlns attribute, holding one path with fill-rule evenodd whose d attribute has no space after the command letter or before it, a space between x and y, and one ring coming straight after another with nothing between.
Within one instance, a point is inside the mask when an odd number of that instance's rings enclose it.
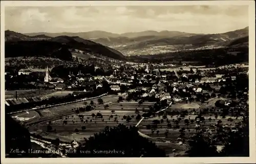
<instances>
[{"instance_id":1,"label":"dark forested hill at left, rising behind the church tower","mask_svg":"<svg viewBox=\"0 0 256 164\"><path fill-rule=\"evenodd\" d=\"M68 49L78 49L84 53L125 60L125 57L120 52L77 36L48 37L44 34L27 36L12 31L6 31L5 38L5 57L45 56L71 60L72 55ZM61 55L61 53L64 53L64 55Z\"/></svg>"}]
</instances>

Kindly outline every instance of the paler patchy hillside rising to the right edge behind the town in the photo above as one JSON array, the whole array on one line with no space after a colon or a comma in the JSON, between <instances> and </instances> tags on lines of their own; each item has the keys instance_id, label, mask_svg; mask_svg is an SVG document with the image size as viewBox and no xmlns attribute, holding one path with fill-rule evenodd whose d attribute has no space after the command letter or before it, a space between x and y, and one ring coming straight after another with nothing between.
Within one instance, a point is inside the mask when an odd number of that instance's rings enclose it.
<instances>
[{"instance_id":1,"label":"paler patchy hillside rising to the right edge behind the town","mask_svg":"<svg viewBox=\"0 0 256 164\"><path fill-rule=\"evenodd\" d=\"M174 37L154 37L132 44L116 45L113 48L125 55L152 55L180 50L204 50L225 47L233 40L248 36L248 28L222 34L180 35ZM243 39L242 39L243 40ZM100 41L98 41L100 42ZM246 42L245 42L246 44ZM247 42L248 44L248 42ZM244 46L244 45L243 45Z\"/></svg>"}]
</instances>

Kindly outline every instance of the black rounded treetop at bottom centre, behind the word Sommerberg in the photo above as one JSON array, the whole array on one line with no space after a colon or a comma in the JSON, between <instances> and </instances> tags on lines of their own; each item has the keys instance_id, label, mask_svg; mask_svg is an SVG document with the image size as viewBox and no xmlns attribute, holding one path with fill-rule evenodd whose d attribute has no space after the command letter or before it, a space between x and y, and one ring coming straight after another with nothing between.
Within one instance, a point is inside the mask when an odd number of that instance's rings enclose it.
<instances>
[{"instance_id":1,"label":"black rounded treetop at bottom centre, behind the word Sommerberg","mask_svg":"<svg viewBox=\"0 0 256 164\"><path fill-rule=\"evenodd\" d=\"M125 140L126 142L123 142ZM97 144L95 144L97 143ZM121 153L82 153L83 150L109 150L114 147ZM139 135L135 126L126 127L119 124L101 133L94 134L86 143L81 144L76 153L68 153L68 157L165 157L165 152L155 143Z\"/></svg>"}]
</instances>

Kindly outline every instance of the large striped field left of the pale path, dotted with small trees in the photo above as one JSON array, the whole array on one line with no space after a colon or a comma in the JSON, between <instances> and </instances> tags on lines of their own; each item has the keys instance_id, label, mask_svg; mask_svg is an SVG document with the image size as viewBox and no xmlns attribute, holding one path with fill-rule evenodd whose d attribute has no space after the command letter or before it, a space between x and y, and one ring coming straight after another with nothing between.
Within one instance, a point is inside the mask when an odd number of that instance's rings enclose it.
<instances>
[{"instance_id":1,"label":"large striped field left of the pale path, dotted with small trees","mask_svg":"<svg viewBox=\"0 0 256 164\"><path fill-rule=\"evenodd\" d=\"M106 100L107 99L105 99L105 101ZM56 133L44 133L43 136L48 138L58 137L67 141L76 139L81 142L84 137L90 137L94 133L102 131L105 126L113 127L118 124L135 126L139 122L139 120L136 120L137 113L135 113L135 108L137 108L140 111L140 114L142 114L142 109L147 109L150 105L154 105L154 103L145 102L140 106L138 102L112 103L109 104L107 109L104 109L103 106L98 106L95 110L80 112L79 114L83 114L83 121L81 121L78 114L69 115L67 117L62 117L60 120L52 121L51 126L53 129L56 129ZM113 113L112 110L114 110ZM92 113L97 114L98 112L102 114L103 118L92 117ZM110 118L111 115L113 115L113 118ZM126 119L123 119L124 115L130 115L132 120L130 122L126 122ZM118 123L114 122L115 118ZM67 121L66 125L63 124L63 121L65 120ZM47 130L47 126L48 122L37 125L37 127L43 131ZM82 126L85 126L86 130L82 130ZM75 132L75 129L78 129L78 132Z\"/></svg>"}]
</instances>

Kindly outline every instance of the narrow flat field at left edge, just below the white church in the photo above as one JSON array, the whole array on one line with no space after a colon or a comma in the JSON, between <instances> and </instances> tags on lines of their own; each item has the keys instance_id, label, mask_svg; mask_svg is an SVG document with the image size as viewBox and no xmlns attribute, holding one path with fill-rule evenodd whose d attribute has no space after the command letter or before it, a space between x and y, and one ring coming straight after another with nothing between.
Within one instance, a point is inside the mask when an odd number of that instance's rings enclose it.
<instances>
[{"instance_id":1,"label":"narrow flat field at left edge, just below the white church","mask_svg":"<svg viewBox=\"0 0 256 164\"><path fill-rule=\"evenodd\" d=\"M56 92L56 90L48 89L48 90L39 90L39 89L31 89L31 90L6 90L5 91L5 99L15 98L15 94L17 91L17 97L41 97L49 95L50 93Z\"/></svg>"}]
</instances>

